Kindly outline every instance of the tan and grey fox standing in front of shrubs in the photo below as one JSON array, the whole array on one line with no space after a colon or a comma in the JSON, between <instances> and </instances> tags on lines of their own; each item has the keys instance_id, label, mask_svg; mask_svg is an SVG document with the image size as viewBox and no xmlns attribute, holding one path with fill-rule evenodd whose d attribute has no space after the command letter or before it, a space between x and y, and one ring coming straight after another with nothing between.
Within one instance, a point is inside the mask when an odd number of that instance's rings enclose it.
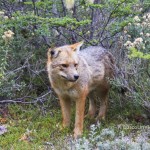
<instances>
[{"instance_id":1,"label":"tan and grey fox standing in front of shrubs","mask_svg":"<svg viewBox=\"0 0 150 150\"><path fill-rule=\"evenodd\" d=\"M97 96L101 101L96 120L105 119L110 85L114 76L114 57L100 46L80 50L83 41L49 48L47 72L51 87L58 96L62 111L62 126L70 126L71 102L75 102L74 138L83 132L86 99L89 97L87 116L95 118ZM94 96L93 96L94 95Z\"/></svg>"}]
</instances>

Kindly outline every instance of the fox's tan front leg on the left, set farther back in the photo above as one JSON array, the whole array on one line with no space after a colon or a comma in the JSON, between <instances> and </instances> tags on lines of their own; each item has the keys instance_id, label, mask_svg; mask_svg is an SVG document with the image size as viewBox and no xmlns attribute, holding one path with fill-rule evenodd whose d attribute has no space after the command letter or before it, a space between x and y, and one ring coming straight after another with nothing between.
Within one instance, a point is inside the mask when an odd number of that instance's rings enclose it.
<instances>
[{"instance_id":1,"label":"fox's tan front leg on the left, set farther back","mask_svg":"<svg viewBox=\"0 0 150 150\"><path fill-rule=\"evenodd\" d=\"M63 117L63 127L70 126L71 100L69 98L59 98Z\"/></svg>"}]
</instances>

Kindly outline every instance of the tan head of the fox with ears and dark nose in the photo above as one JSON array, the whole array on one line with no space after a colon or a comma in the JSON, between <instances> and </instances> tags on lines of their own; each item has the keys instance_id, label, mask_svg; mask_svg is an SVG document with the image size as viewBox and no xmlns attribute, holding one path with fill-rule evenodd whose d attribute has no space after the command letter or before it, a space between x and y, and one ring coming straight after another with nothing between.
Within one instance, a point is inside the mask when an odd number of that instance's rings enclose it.
<instances>
[{"instance_id":1,"label":"tan head of the fox with ears and dark nose","mask_svg":"<svg viewBox=\"0 0 150 150\"><path fill-rule=\"evenodd\" d=\"M79 78L78 51L83 42L72 45L65 45L48 50L48 63L50 64L51 72L57 78L65 81L75 82Z\"/></svg>"}]
</instances>

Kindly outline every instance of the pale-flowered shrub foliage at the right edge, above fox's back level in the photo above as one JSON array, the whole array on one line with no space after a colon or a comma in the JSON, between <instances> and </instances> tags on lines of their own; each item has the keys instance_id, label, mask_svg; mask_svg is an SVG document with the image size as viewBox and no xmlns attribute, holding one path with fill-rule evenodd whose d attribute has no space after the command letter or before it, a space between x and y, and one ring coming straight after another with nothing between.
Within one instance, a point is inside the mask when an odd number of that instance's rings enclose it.
<instances>
[{"instance_id":1,"label":"pale-flowered shrub foliage at the right edge, above fox's back level","mask_svg":"<svg viewBox=\"0 0 150 150\"><path fill-rule=\"evenodd\" d=\"M135 16L133 23L125 27L127 42L124 44L130 50L130 57L150 58L150 13L142 17Z\"/></svg>"}]
</instances>

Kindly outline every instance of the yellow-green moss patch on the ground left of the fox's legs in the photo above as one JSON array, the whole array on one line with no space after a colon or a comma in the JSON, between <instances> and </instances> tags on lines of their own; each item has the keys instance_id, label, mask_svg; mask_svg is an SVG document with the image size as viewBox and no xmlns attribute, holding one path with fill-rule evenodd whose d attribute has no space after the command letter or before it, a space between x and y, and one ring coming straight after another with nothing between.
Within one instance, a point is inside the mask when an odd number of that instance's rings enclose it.
<instances>
[{"instance_id":1,"label":"yellow-green moss patch on the ground left of the fox's legs","mask_svg":"<svg viewBox=\"0 0 150 150\"><path fill-rule=\"evenodd\" d=\"M69 130L61 128L61 113L59 110L49 110L43 115L35 106L9 106L7 129L8 132L0 136L0 148L42 149L44 143L56 141L64 137Z\"/></svg>"}]
</instances>

